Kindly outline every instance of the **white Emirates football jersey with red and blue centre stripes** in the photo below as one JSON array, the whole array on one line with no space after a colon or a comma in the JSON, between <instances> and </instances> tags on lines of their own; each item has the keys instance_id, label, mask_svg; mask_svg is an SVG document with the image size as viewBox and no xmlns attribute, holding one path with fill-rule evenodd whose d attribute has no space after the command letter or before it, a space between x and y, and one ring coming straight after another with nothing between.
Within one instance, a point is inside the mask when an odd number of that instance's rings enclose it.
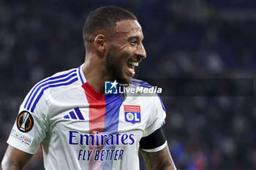
<instances>
[{"instance_id":1,"label":"white Emirates football jersey with red and blue centre stripes","mask_svg":"<svg viewBox=\"0 0 256 170\"><path fill-rule=\"evenodd\" d=\"M147 87L144 82L132 82ZM165 107L157 93L103 96L86 82L80 66L54 74L31 89L7 143L30 154L41 144L47 170L136 170L140 139L163 123Z\"/></svg>"}]
</instances>

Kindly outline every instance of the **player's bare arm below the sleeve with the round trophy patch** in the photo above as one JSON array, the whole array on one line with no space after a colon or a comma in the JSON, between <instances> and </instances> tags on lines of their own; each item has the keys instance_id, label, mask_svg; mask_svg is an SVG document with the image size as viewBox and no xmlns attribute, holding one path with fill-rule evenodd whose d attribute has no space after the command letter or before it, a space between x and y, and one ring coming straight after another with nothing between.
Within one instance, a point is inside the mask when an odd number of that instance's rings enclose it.
<instances>
[{"instance_id":1,"label":"player's bare arm below the sleeve with the round trophy patch","mask_svg":"<svg viewBox=\"0 0 256 170\"><path fill-rule=\"evenodd\" d=\"M1 161L0 170L21 170L26 167L33 155L8 146Z\"/></svg>"}]
</instances>

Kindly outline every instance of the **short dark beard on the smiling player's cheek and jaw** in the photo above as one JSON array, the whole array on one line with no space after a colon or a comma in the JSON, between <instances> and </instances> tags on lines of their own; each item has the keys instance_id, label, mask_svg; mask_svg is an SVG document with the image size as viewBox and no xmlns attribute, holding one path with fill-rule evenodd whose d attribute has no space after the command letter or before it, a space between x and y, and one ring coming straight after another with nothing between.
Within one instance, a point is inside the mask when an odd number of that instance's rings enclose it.
<instances>
[{"instance_id":1,"label":"short dark beard on the smiling player's cheek and jaw","mask_svg":"<svg viewBox=\"0 0 256 170\"><path fill-rule=\"evenodd\" d=\"M113 54L113 50L110 50L106 57L106 67L113 77L113 80L116 80L121 84L129 84L130 80L124 78L123 67L121 64L124 61L121 61L121 58L116 57Z\"/></svg>"}]
</instances>

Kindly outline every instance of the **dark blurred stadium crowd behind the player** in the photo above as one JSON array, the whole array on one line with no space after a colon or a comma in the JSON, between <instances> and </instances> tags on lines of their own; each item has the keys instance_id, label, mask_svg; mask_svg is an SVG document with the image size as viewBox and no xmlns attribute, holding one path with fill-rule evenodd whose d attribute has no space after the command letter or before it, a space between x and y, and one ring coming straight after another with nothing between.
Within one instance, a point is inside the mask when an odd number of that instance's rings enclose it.
<instances>
[{"instance_id":1,"label":"dark blurred stadium crowd behind the player","mask_svg":"<svg viewBox=\"0 0 256 170\"><path fill-rule=\"evenodd\" d=\"M110 4L134 12L143 27L147 58L137 78L255 77L255 0L2 0L0 160L26 93L39 80L83 63L86 16ZM255 97L162 101L178 169L256 169ZM43 169L40 151L27 169Z\"/></svg>"}]
</instances>

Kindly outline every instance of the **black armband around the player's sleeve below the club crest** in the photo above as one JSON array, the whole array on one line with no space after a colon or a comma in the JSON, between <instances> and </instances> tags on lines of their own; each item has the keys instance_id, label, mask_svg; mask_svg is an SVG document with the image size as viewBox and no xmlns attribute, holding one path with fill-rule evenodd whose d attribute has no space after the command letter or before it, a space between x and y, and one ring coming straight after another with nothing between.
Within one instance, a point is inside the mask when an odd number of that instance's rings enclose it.
<instances>
[{"instance_id":1,"label":"black armband around the player's sleeve below the club crest","mask_svg":"<svg viewBox=\"0 0 256 170\"><path fill-rule=\"evenodd\" d=\"M140 139L140 148L144 150L151 150L165 144L165 134L162 127L154 131L152 134Z\"/></svg>"}]
</instances>

